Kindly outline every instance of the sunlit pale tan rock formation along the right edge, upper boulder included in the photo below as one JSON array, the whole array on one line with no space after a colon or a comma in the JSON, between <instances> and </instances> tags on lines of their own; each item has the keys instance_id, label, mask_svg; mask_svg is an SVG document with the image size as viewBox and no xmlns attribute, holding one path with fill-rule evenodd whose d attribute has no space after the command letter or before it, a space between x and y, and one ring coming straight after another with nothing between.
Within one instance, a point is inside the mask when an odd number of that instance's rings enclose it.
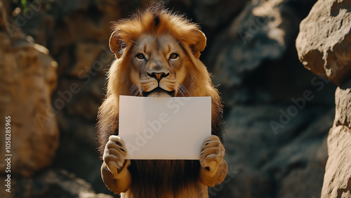
<instances>
[{"instance_id":1,"label":"sunlit pale tan rock formation along the right edge, upper boulder included","mask_svg":"<svg viewBox=\"0 0 351 198\"><path fill-rule=\"evenodd\" d=\"M328 161L321 197L351 197L351 1L317 1L301 22L296 48L314 74L339 87L328 136Z\"/></svg>"}]
</instances>

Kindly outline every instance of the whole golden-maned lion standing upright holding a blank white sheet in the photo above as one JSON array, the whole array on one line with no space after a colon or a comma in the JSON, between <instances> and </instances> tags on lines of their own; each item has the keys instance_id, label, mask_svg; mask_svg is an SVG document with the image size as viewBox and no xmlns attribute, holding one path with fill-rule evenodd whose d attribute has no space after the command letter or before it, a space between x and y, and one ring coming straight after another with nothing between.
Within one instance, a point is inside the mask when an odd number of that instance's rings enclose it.
<instances>
[{"instance_id":1,"label":"whole golden-maned lion standing upright holding a blank white sheet","mask_svg":"<svg viewBox=\"0 0 351 198\"><path fill-rule=\"evenodd\" d=\"M105 185L121 197L208 197L208 186L223 182L223 105L199 60L206 37L199 26L162 6L153 6L113 25L110 49L116 56L107 95L99 108L98 139ZM118 134L119 95L211 96L211 137L199 160L131 160ZM181 146L181 145L179 145Z\"/></svg>"}]
</instances>

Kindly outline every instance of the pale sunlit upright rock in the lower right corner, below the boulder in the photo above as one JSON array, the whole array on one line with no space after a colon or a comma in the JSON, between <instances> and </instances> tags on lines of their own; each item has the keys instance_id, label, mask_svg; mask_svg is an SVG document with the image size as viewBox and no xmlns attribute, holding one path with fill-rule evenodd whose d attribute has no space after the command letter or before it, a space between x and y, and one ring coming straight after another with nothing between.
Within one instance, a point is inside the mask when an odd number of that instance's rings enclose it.
<instances>
[{"instance_id":1,"label":"pale sunlit upright rock in the lower right corner, below the boulder","mask_svg":"<svg viewBox=\"0 0 351 198\"><path fill-rule=\"evenodd\" d=\"M351 197L351 81L336 89L336 115L328 136L328 161L321 197Z\"/></svg>"}]
</instances>

